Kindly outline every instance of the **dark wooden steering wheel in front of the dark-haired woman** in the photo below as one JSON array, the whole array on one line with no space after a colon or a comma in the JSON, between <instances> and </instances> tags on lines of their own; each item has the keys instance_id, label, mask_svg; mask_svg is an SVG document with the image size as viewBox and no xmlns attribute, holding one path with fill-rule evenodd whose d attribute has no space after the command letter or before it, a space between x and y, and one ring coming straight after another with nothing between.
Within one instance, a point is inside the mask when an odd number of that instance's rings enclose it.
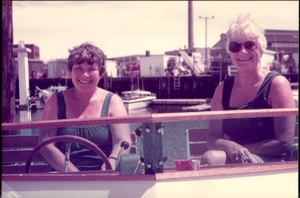
<instances>
[{"instance_id":1,"label":"dark wooden steering wheel in front of the dark-haired woman","mask_svg":"<svg viewBox=\"0 0 300 198\"><path fill-rule=\"evenodd\" d=\"M63 136L57 136L57 137L52 137L47 139L46 141L40 143L39 145L37 145L33 151L30 153L27 162L26 162L26 167L25 167L25 173L30 173L30 166L31 166L31 161L34 157L34 155L41 150L41 148L45 147L48 144L54 143L54 142L67 142L67 151L66 153L70 153L70 143L71 142L75 142L75 143L79 143L81 145L86 146L87 148L91 149L92 151L94 151L95 153L97 153L102 161L105 163L106 165L106 169L107 170L111 170L111 164L108 161L108 158L106 157L106 155L103 153L103 151L93 142L84 139L82 137L78 137L78 136L73 136L73 135L63 135ZM69 144L69 149L68 149L68 144ZM65 162L66 165L66 162Z\"/></svg>"}]
</instances>

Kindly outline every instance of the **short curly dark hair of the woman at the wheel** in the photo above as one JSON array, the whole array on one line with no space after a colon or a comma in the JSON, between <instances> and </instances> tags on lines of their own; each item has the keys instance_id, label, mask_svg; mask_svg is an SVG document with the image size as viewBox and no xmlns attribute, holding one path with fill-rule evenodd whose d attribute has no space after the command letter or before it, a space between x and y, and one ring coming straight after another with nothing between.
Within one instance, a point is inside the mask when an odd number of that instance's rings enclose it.
<instances>
[{"instance_id":1,"label":"short curly dark hair of the woman at the wheel","mask_svg":"<svg viewBox=\"0 0 300 198\"><path fill-rule=\"evenodd\" d=\"M80 46L69 49L70 55L68 58L68 69L72 71L74 64L82 64L87 61L89 65L96 63L99 67L99 75L105 72L105 59L106 56L103 51L96 47L91 42L85 42Z\"/></svg>"}]
</instances>

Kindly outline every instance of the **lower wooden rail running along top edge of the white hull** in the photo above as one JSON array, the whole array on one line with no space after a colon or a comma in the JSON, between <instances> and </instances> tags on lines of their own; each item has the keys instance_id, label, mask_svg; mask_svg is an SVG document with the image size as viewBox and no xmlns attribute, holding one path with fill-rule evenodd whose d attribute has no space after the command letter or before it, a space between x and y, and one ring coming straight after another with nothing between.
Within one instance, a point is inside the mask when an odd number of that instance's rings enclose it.
<instances>
[{"instance_id":1,"label":"lower wooden rail running along top edge of the white hull","mask_svg":"<svg viewBox=\"0 0 300 198\"><path fill-rule=\"evenodd\" d=\"M154 175L120 175L117 171L81 171L72 173L43 174L2 174L2 181L163 181L184 178L205 178L210 176L235 177L236 174L280 174L298 172L298 162L268 162L263 164L231 164L222 166L206 166L197 171L177 171L166 169L164 173Z\"/></svg>"}]
</instances>

